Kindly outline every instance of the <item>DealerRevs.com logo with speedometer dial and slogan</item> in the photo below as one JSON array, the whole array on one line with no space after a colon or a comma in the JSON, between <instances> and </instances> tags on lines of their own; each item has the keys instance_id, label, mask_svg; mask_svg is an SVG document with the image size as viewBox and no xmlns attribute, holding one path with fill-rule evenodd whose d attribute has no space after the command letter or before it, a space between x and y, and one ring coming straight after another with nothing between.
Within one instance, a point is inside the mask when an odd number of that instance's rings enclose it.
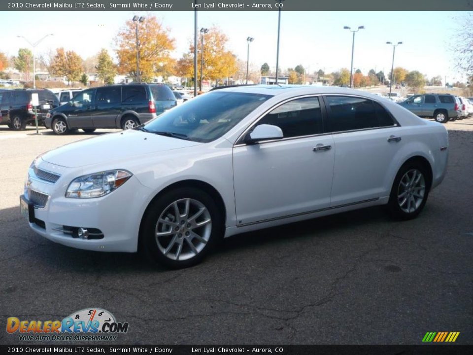
<instances>
[{"instance_id":1,"label":"DealerRevs.com logo with speedometer dial and slogan","mask_svg":"<svg viewBox=\"0 0 473 355\"><path fill-rule=\"evenodd\" d=\"M110 341L119 333L128 332L128 322L117 322L108 311L86 308L63 320L20 320L9 317L6 331L19 333L23 341Z\"/></svg>"}]
</instances>

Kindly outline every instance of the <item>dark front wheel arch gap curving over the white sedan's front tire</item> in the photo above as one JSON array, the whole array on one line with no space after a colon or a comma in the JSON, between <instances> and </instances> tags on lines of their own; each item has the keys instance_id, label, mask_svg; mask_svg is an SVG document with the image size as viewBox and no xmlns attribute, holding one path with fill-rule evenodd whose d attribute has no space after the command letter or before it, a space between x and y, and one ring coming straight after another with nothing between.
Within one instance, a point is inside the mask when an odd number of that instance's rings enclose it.
<instances>
[{"instance_id":1,"label":"dark front wheel arch gap curving over the white sedan's front tire","mask_svg":"<svg viewBox=\"0 0 473 355\"><path fill-rule=\"evenodd\" d=\"M197 179L186 179L186 180L180 180L180 181L176 181L176 182L173 182L171 183L170 185L166 186L165 188L163 188L161 191L159 191L148 203L148 205L146 206L144 212L142 213L141 215L141 220L139 222L139 232L138 232L138 238L139 236L141 236L142 234L142 225L143 225L143 219L144 219L144 216L146 215L146 213L148 212L151 204L156 200L156 199L159 199L160 196L162 196L163 194L167 193L168 191L171 191L171 190L174 190L174 189L177 189L177 188L180 188L180 187L194 187L194 188L197 188L197 189L200 189L200 190L203 190L204 192L206 192L207 194L210 195L210 197L212 197L212 199L215 201L215 203L217 204L217 207L220 211L222 211L222 217L223 217L223 227L225 228L226 226L226 223L227 223L227 208L225 206L225 202L222 198L222 195L217 191L217 189L215 187L213 187L211 184L209 184L208 182L204 182L202 180L197 180ZM139 247L139 243L138 243L138 247Z\"/></svg>"}]
</instances>

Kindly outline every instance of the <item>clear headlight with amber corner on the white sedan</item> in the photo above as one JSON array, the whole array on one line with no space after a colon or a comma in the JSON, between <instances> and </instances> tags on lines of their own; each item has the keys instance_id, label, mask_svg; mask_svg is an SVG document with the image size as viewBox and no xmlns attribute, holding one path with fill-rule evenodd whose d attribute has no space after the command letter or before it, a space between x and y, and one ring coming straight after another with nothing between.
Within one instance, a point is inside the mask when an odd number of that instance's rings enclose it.
<instances>
[{"instance_id":1,"label":"clear headlight with amber corner on the white sedan","mask_svg":"<svg viewBox=\"0 0 473 355\"><path fill-rule=\"evenodd\" d=\"M123 185L132 173L125 170L109 170L84 175L72 180L66 191L70 198L95 198L109 194Z\"/></svg>"}]
</instances>

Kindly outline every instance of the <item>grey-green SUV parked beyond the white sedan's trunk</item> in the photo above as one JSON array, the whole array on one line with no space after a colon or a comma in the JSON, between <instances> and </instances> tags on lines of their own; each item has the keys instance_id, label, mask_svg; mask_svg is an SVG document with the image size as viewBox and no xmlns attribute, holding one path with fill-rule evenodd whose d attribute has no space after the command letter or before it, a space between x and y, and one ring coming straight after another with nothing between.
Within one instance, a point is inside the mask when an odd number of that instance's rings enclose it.
<instances>
[{"instance_id":1,"label":"grey-green SUV parked beyond the white sedan's trunk","mask_svg":"<svg viewBox=\"0 0 473 355\"><path fill-rule=\"evenodd\" d=\"M460 102L450 94L414 95L398 104L419 117L434 117L440 123L455 120L461 114Z\"/></svg>"}]
</instances>

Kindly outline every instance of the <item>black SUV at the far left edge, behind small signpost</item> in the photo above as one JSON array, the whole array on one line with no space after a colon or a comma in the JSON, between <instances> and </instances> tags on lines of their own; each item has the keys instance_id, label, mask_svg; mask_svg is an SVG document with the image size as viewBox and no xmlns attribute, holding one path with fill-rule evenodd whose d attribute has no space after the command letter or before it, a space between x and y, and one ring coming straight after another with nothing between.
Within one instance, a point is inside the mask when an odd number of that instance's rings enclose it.
<instances>
[{"instance_id":1,"label":"black SUV at the far left edge, behind small signpost","mask_svg":"<svg viewBox=\"0 0 473 355\"><path fill-rule=\"evenodd\" d=\"M47 112L59 106L59 100L47 89L0 90L0 124L6 124L15 131L24 130L27 124L34 124L34 107L31 94L37 93L39 106L36 107L38 124L43 124Z\"/></svg>"}]
</instances>

